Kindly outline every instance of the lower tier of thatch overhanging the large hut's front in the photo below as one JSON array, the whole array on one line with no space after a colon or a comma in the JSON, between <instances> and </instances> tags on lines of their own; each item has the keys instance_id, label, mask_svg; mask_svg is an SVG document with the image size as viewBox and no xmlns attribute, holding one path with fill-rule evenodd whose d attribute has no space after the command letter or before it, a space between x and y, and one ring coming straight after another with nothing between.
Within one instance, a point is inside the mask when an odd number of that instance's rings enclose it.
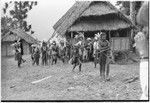
<instances>
[{"instance_id":1,"label":"lower tier of thatch overhanging the large hut's front","mask_svg":"<svg viewBox=\"0 0 150 103\"><path fill-rule=\"evenodd\" d=\"M118 30L129 28L131 25L121 19L91 19L80 20L72 25L68 31L99 31L99 30Z\"/></svg>"}]
</instances>

